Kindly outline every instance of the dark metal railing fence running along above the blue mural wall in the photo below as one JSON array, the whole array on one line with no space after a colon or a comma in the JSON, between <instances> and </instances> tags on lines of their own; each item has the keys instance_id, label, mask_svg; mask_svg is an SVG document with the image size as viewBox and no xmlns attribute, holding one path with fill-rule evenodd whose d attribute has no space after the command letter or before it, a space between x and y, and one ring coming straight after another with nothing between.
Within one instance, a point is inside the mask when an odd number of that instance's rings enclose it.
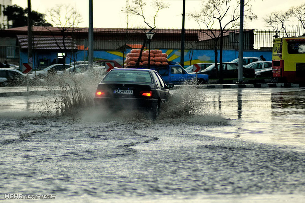
<instances>
[{"instance_id":1,"label":"dark metal railing fence running along above the blue mural wall","mask_svg":"<svg viewBox=\"0 0 305 203\"><path fill-rule=\"evenodd\" d=\"M143 44L145 29L97 29L94 31L94 50L120 50L125 44ZM155 29L151 41L151 49L180 49L181 30ZM279 37L302 36L305 33L303 27L285 27L279 33L274 30L244 30L244 50L270 50L274 35ZM220 48L219 30L185 30L185 49L214 49L215 39L217 48ZM79 40L79 44L82 41ZM147 45L146 45L147 46ZM225 30L223 49L239 49L239 30Z\"/></svg>"}]
</instances>

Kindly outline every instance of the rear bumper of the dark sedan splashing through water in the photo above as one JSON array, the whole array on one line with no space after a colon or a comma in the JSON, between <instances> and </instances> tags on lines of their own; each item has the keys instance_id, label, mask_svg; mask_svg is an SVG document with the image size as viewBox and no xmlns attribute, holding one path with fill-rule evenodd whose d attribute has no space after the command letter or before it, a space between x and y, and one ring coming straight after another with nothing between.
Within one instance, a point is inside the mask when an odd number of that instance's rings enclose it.
<instances>
[{"instance_id":1,"label":"rear bumper of the dark sedan splashing through water","mask_svg":"<svg viewBox=\"0 0 305 203\"><path fill-rule=\"evenodd\" d=\"M122 109L144 109L152 108L157 103L157 99L135 99L135 98L113 98L113 97L95 97L95 105L105 105L110 108Z\"/></svg>"}]
</instances>

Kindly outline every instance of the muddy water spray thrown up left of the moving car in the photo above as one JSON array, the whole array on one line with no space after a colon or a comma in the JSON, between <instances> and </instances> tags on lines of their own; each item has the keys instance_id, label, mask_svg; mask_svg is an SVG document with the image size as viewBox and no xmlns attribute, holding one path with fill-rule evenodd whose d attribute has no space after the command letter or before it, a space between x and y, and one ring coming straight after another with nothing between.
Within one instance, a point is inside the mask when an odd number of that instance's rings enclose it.
<instances>
[{"instance_id":1,"label":"muddy water spray thrown up left of the moving car","mask_svg":"<svg viewBox=\"0 0 305 203\"><path fill-rule=\"evenodd\" d=\"M46 77L46 86L53 102L47 98L46 103L38 107L41 115L76 115L80 109L93 106L96 85L102 80L105 70L89 69L84 74L63 73Z\"/></svg>"}]
</instances>

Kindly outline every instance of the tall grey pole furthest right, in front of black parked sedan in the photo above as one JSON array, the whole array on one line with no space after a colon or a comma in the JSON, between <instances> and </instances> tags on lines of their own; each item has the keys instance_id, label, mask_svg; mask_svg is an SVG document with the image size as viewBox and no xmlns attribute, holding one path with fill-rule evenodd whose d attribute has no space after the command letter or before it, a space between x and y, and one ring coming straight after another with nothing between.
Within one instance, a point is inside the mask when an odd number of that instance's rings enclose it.
<instances>
[{"instance_id":1,"label":"tall grey pole furthest right, in front of black parked sedan","mask_svg":"<svg viewBox=\"0 0 305 203\"><path fill-rule=\"evenodd\" d=\"M240 19L239 19L239 51L238 51L238 83L243 83L242 79L242 65L244 52L244 0L240 0Z\"/></svg>"}]
</instances>

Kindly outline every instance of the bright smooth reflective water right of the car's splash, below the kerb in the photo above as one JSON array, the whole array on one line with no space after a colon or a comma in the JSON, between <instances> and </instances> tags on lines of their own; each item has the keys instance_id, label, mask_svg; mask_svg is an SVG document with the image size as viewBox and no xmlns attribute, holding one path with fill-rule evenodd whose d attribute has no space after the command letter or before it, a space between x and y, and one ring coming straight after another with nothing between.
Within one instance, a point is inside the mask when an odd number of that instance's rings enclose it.
<instances>
[{"instance_id":1,"label":"bright smooth reflective water right of the car's splash, below the kerb","mask_svg":"<svg viewBox=\"0 0 305 203\"><path fill-rule=\"evenodd\" d=\"M228 119L236 119L232 127L226 126L211 131L211 134L263 143L305 145L303 89L240 88L208 92L210 102L218 104L217 108L211 105L216 112Z\"/></svg>"}]
</instances>

